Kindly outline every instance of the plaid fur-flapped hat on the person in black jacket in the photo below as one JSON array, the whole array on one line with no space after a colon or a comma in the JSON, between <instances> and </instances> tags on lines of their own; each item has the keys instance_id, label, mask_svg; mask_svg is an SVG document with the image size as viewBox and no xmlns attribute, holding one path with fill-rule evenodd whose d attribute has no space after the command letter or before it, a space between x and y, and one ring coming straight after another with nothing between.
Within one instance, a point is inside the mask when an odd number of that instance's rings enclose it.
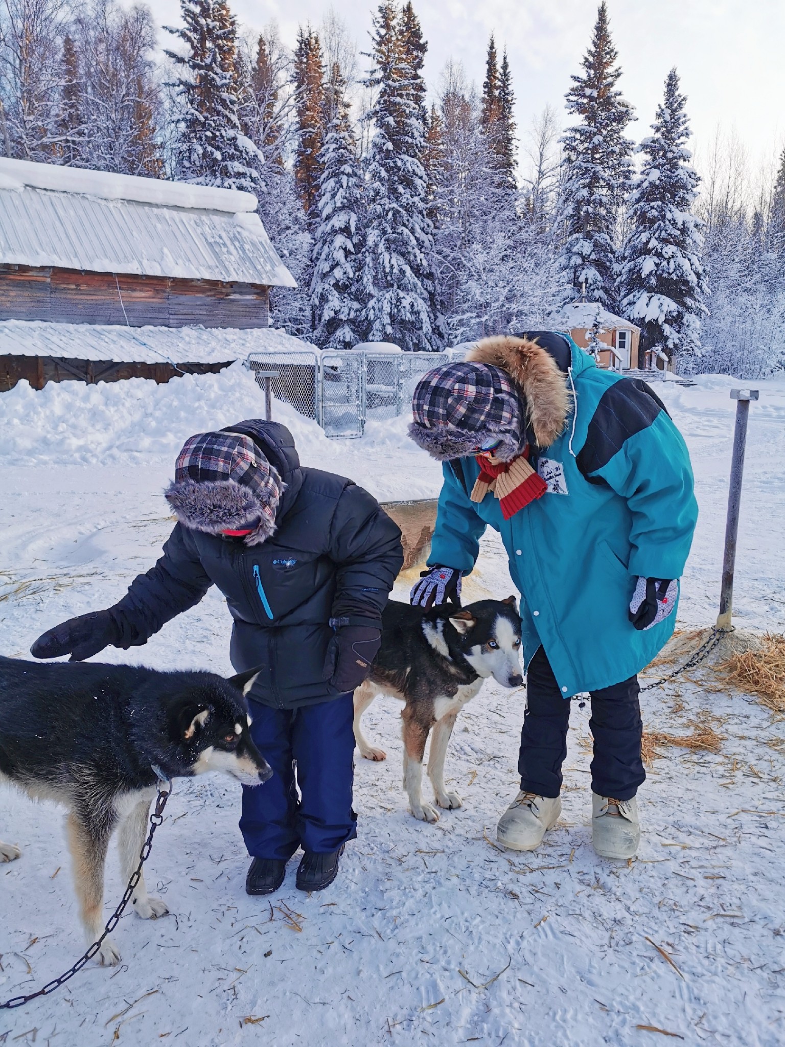
<instances>
[{"instance_id":1,"label":"plaid fur-flapped hat on the person in black jacket","mask_svg":"<svg viewBox=\"0 0 785 1047\"><path fill-rule=\"evenodd\" d=\"M198 432L175 464L164 497L183 527L206 534L253 527L247 545L275 531L275 513L286 485L250 437L240 432Z\"/></svg>"}]
</instances>

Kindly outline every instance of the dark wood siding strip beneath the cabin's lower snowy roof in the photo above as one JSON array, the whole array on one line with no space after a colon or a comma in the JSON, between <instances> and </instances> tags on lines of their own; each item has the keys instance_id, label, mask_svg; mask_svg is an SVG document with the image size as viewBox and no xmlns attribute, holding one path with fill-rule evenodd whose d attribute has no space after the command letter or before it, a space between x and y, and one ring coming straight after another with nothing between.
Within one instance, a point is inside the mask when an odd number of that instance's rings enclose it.
<instances>
[{"instance_id":1,"label":"dark wood siding strip beneath the cabin's lower snowy roof","mask_svg":"<svg viewBox=\"0 0 785 1047\"><path fill-rule=\"evenodd\" d=\"M0 356L0 393L27 379L36 389L47 382L118 382L125 378L152 378L158 384L180 375L215 375L226 363L117 363L113 360L80 360L59 356Z\"/></svg>"}]
</instances>

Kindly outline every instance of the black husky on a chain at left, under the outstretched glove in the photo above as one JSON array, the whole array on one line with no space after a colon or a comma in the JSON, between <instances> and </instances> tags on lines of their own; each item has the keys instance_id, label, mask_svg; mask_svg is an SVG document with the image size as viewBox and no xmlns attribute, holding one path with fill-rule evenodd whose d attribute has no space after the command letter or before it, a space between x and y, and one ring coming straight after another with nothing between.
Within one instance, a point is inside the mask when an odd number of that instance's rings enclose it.
<instances>
[{"instance_id":1,"label":"black husky on a chain at left, under the outstretched glove","mask_svg":"<svg viewBox=\"0 0 785 1047\"><path fill-rule=\"evenodd\" d=\"M255 670L224 680L211 672L156 672L128 665L23 662L0 656L0 782L68 808L68 845L88 942L104 929L104 866L119 827L124 883L139 862L159 776L224 771L246 785L272 775L248 732L245 694ZM20 850L0 843L0 862ZM132 896L142 919L167 912ZM120 955L104 939L96 959Z\"/></svg>"}]
</instances>

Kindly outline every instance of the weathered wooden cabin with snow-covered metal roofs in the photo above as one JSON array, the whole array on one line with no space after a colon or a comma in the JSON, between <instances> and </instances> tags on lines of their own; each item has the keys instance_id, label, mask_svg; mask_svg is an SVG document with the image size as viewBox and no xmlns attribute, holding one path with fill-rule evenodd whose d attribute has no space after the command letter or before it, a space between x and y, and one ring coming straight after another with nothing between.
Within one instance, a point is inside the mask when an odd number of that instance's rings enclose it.
<instances>
[{"instance_id":1,"label":"weathered wooden cabin with snow-covered metal roofs","mask_svg":"<svg viewBox=\"0 0 785 1047\"><path fill-rule=\"evenodd\" d=\"M167 381L231 362L219 332L267 329L270 289L296 286L256 205L233 190L0 158L0 389ZM145 337L112 337L139 328ZM158 332L173 328L215 336L167 352Z\"/></svg>"}]
</instances>

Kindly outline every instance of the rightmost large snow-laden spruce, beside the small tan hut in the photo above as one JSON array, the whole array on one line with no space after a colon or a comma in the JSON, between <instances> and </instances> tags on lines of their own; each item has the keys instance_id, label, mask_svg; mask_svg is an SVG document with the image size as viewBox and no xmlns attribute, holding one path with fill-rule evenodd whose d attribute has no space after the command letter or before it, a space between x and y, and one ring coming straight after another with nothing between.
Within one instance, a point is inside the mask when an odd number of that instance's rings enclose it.
<instances>
[{"instance_id":1,"label":"rightmost large snow-laden spruce, beside the small tan hut","mask_svg":"<svg viewBox=\"0 0 785 1047\"><path fill-rule=\"evenodd\" d=\"M644 162L629 198L621 308L641 328L642 357L648 349L664 350L671 359L694 355L706 312L702 222L691 210L699 178L686 149L686 101L671 69L654 133L638 147Z\"/></svg>"}]
</instances>

